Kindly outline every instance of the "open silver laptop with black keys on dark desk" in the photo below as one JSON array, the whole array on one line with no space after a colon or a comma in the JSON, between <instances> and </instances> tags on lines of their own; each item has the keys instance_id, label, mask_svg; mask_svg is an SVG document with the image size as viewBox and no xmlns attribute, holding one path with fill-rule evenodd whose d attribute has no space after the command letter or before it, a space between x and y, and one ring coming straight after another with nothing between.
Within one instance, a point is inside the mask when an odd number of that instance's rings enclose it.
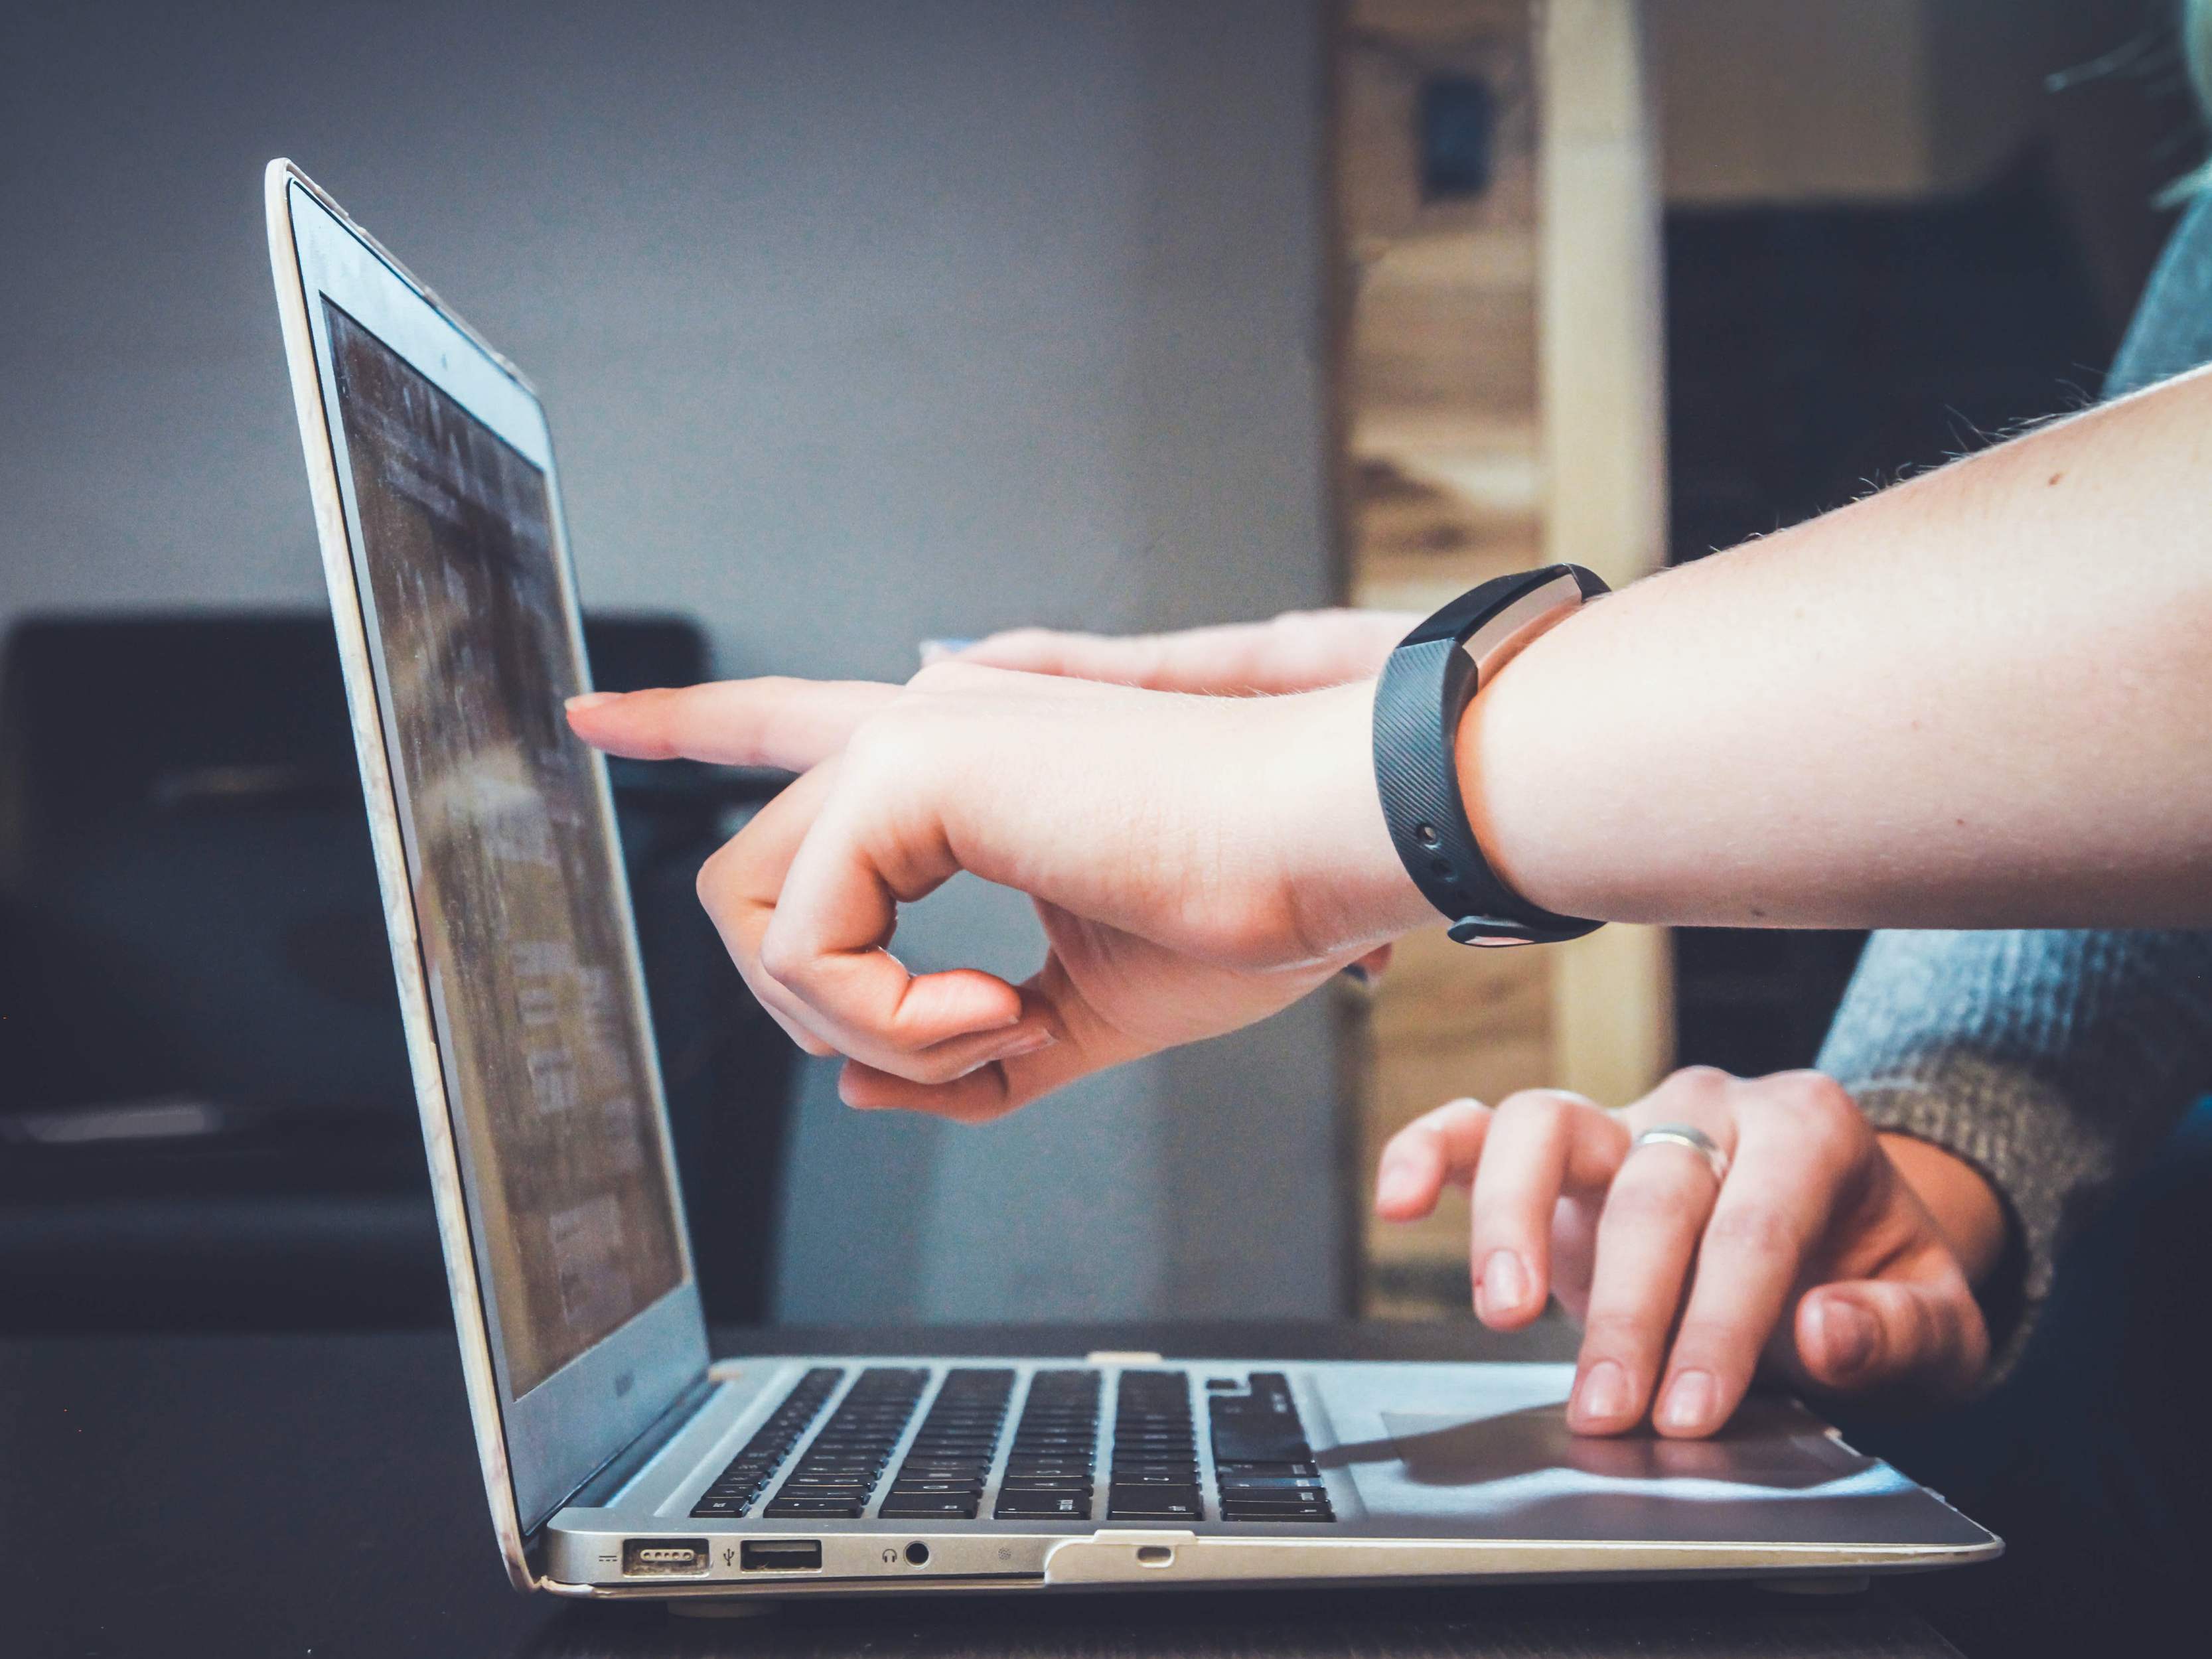
<instances>
[{"instance_id":1,"label":"open silver laptop with black keys on dark desk","mask_svg":"<svg viewBox=\"0 0 2212 1659\"><path fill-rule=\"evenodd\" d=\"M606 1597L1854 1579L2002 1544L1754 1396L1577 1440L1568 1365L708 1365L544 409L288 161L270 257L484 1493Z\"/></svg>"}]
</instances>

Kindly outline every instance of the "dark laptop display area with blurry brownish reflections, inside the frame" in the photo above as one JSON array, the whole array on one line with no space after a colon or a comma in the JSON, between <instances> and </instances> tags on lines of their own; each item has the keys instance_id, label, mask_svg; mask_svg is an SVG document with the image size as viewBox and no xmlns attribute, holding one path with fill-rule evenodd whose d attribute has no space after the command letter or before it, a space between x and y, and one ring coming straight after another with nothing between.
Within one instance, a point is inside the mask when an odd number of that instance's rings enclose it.
<instances>
[{"instance_id":1,"label":"dark laptop display area with blurry brownish reflections, inside the frame","mask_svg":"<svg viewBox=\"0 0 2212 1659\"><path fill-rule=\"evenodd\" d=\"M681 1254L544 473L327 305L416 925L507 1385L675 1290Z\"/></svg>"}]
</instances>

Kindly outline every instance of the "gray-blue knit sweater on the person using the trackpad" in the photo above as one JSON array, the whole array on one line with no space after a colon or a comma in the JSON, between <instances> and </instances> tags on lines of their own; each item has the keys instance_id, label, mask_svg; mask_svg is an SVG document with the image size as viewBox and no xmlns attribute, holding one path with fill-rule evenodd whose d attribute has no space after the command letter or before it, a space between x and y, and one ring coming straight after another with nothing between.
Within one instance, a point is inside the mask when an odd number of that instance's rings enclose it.
<instances>
[{"instance_id":1,"label":"gray-blue knit sweater on the person using the trackpad","mask_svg":"<svg viewBox=\"0 0 2212 1659\"><path fill-rule=\"evenodd\" d=\"M2212 197L2177 226L2106 396L2208 361ZM1818 1066L2004 1197L2013 1263L1984 1296L2002 1374L2059 1245L2212 1093L2212 933L1876 933Z\"/></svg>"}]
</instances>

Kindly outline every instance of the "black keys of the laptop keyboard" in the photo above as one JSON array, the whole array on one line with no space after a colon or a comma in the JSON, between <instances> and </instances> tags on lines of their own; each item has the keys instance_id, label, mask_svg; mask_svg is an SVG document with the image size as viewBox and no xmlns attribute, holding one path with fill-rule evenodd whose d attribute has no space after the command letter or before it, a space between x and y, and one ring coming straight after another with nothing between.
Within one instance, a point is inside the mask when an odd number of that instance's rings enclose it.
<instances>
[{"instance_id":1,"label":"black keys of the laptop keyboard","mask_svg":"<svg viewBox=\"0 0 2212 1659\"><path fill-rule=\"evenodd\" d=\"M706 1489L692 1515L745 1515L843 1376L836 1367L807 1371ZM880 1520L975 1520L1013 1380L1011 1367L956 1367L945 1374L929 1416L876 1511ZM860 1520L927 1387L929 1371L922 1367L872 1365L860 1371L761 1515ZM1099 1396L1102 1376L1093 1369L1042 1369L1031 1376L1013 1444L1006 1449L993 1520L1093 1517ZM1250 1389L1217 1378L1208 1385L1206 1413L1219 1520L1336 1520L1285 1374L1254 1371ZM1115 1385L1106 1520L1206 1520L1186 1371L1121 1371Z\"/></svg>"}]
</instances>

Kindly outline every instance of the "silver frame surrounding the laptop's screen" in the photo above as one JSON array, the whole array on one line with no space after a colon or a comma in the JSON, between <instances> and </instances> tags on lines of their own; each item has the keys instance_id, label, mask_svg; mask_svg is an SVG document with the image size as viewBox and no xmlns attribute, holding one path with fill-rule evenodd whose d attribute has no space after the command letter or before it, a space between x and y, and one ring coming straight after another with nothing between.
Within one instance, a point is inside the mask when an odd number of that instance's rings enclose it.
<instances>
[{"instance_id":1,"label":"silver frame surrounding the laptop's screen","mask_svg":"<svg viewBox=\"0 0 2212 1659\"><path fill-rule=\"evenodd\" d=\"M268 210L270 254L279 305L285 314L285 356L292 367L301 440L316 498L323 573L338 628L338 655L345 666L354 745L369 805L409 1064L429 1146L431 1190L469 1378L469 1407L476 1418L487 1495L500 1526L509 1571L518 1584L535 1584L535 1573L524 1559L531 1533L568 1493L648 1429L703 1376L708 1363L706 1323L684 1228L684 1197L677 1186L668 1108L653 1051L650 1013L644 1002L628 887L622 876L619 847L613 845L613 799L606 768L595 757L591 770L606 823L602 852L619 909L633 1018L646 1035L646 1093L661 1141L668 1225L675 1228L681 1281L526 1394L515 1396L507 1385L507 1360L498 1338L498 1298L484 1267L489 1254L478 1234L476 1206L467 1199L467 1135L453 1121L449 1073L438 1042L438 1022L416 929L414 858L407 847L403 810L405 776L394 763L398 745L392 706L385 697L374 591L363 568L361 520L345 425L336 405L323 301L330 299L345 310L544 473L566 633L575 653L577 684L588 684L553 445L544 409L529 383L288 161L270 164Z\"/></svg>"}]
</instances>

